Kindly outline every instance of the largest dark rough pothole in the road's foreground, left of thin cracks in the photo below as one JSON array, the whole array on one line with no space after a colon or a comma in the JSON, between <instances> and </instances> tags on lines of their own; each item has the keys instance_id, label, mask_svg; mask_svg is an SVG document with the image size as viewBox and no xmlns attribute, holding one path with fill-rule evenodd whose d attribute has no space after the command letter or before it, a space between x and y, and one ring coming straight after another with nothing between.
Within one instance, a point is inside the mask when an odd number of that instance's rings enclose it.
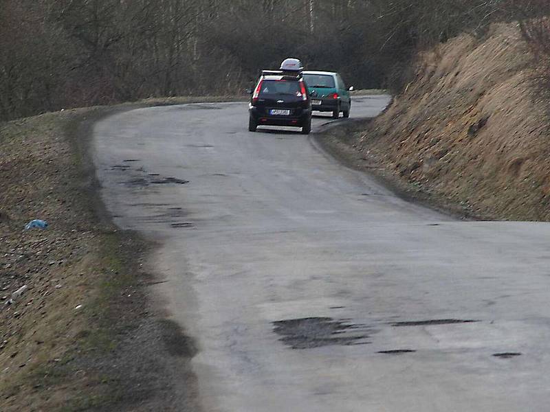
<instances>
[{"instance_id":1,"label":"largest dark rough pothole in the road's foreground, left of thin cracks","mask_svg":"<svg viewBox=\"0 0 550 412\"><path fill-rule=\"evenodd\" d=\"M292 349L308 349L329 345L360 345L369 336L359 325L329 317L309 317L273 322L274 332Z\"/></svg>"}]
</instances>

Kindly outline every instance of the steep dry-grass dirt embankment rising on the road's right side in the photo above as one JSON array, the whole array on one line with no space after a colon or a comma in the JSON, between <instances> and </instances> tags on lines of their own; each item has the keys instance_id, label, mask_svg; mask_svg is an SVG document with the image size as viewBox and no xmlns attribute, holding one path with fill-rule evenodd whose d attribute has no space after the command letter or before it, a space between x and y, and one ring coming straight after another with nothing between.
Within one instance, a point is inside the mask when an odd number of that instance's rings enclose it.
<instances>
[{"instance_id":1,"label":"steep dry-grass dirt embankment rising on the road's right side","mask_svg":"<svg viewBox=\"0 0 550 412\"><path fill-rule=\"evenodd\" d=\"M536 79L515 25L463 35L420 56L386 113L338 144L355 165L466 216L550 220L550 120Z\"/></svg>"}]
</instances>

